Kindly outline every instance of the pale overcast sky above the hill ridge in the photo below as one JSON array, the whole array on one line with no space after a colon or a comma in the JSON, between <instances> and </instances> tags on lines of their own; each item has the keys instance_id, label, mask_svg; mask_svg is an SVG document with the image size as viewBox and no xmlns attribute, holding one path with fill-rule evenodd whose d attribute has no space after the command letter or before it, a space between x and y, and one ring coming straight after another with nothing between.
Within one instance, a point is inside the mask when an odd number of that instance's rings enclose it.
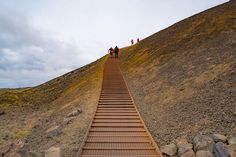
<instances>
[{"instance_id":1,"label":"pale overcast sky above the hill ridge","mask_svg":"<svg viewBox=\"0 0 236 157\"><path fill-rule=\"evenodd\" d=\"M0 0L0 88L39 85L226 0Z\"/></svg>"}]
</instances>

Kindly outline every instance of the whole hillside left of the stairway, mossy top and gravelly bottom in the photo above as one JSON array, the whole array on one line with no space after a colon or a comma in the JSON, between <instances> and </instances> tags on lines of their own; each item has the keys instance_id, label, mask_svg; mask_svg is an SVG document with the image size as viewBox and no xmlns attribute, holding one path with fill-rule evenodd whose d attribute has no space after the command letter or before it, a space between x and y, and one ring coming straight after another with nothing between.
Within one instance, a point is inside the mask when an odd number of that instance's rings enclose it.
<instances>
[{"instance_id":1,"label":"whole hillside left of the stairway, mossy top and gravelly bottom","mask_svg":"<svg viewBox=\"0 0 236 157\"><path fill-rule=\"evenodd\" d=\"M106 57L33 88L0 90L1 147L25 141L21 150L44 153L60 147L65 156L75 156L96 109ZM68 114L82 111L70 119ZM65 120L65 118L67 118ZM47 131L60 127L60 136L48 138ZM13 155L14 156L14 155Z\"/></svg>"}]
</instances>

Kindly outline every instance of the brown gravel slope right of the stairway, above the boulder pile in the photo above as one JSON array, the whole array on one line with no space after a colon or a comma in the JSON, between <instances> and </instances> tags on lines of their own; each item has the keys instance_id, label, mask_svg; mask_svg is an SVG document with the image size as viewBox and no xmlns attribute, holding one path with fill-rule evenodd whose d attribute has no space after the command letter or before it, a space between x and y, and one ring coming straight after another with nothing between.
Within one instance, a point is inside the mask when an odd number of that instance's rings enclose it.
<instances>
[{"instance_id":1,"label":"brown gravel slope right of the stairway, above the boulder pile","mask_svg":"<svg viewBox=\"0 0 236 157\"><path fill-rule=\"evenodd\" d=\"M236 131L236 3L187 18L120 59L135 102L159 144Z\"/></svg>"}]
</instances>

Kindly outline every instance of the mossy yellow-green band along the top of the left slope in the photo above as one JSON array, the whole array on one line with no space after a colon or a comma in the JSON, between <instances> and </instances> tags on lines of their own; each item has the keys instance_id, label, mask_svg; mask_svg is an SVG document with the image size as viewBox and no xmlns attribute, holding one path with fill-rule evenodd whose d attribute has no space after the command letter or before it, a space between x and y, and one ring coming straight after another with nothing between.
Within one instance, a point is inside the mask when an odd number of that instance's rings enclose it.
<instances>
[{"instance_id":1,"label":"mossy yellow-green band along the top of the left slope","mask_svg":"<svg viewBox=\"0 0 236 157\"><path fill-rule=\"evenodd\" d=\"M104 58L36 87L0 89L1 108L49 104L60 97L71 95L82 86L92 85L101 78L101 62L104 62Z\"/></svg>"}]
</instances>

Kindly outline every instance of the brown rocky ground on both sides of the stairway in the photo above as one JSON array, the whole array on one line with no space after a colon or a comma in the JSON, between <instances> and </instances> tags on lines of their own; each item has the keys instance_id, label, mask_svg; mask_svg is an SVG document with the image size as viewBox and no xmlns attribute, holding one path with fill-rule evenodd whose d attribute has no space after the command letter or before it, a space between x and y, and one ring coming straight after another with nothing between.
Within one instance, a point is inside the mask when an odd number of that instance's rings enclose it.
<instances>
[{"instance_id":1,"label":"brown rocky ground on both sides of the stairway","mask_svg":"<svg viewBox=\"0 0 236 157\"><path fill-rule=\"evenodd\" d=\"M122 49L122 71L164 154L169 147L169 156L210 157L235 148L235 26L231 1ZM37 87L0 90L0 157L74 157L96 109L105 59Z\"/></svg>"}]
</instances>

